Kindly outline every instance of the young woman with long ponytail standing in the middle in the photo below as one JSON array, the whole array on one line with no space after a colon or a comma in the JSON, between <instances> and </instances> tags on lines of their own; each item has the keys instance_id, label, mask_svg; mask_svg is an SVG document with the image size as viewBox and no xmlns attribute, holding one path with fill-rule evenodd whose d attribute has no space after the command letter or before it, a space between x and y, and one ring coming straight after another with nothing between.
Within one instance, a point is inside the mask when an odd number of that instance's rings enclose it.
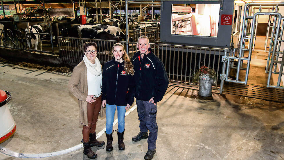
<instances>
[{"instance_id":1,"label":"young woman with long ponytail standing in the middle","mask_svg":"<svg viewBox=\"0 0 284 160\"><path fill-rule=\"evenodd\" d=\"M117 107L118 118L118 149L124 150L124 116L126 109L129 109L134 101L134 69L129 56L121 43L116 43L112 47L114 59L105 63L103 67L103 87L102 104L106 108L106 136L107 151L112 151L112 125L114 113Z\"/></svg>"}]
</instances>

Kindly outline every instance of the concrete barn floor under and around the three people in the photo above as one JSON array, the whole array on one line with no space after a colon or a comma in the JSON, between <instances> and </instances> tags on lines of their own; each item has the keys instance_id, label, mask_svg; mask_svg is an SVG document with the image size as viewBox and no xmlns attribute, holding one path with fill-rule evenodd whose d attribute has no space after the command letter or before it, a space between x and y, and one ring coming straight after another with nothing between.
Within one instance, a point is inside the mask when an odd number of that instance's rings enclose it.
<instances>
[{"instance_id":1,"label":"concrete barn floor under and around the three people","mask_svg":"<svg viewBox=\"0 0 284 160\"><path fill-rule=\"evenodd\" d=\"M1 147L39 154L80 144L78 104L67 88L70 75L0 63L0 89L12 94L7 105L17 123L16 133ZM284 104L280 103L215 93L212 98L202 99L197 90L169 86L158 103L159 131L153 160L284 159L283 113ZM139 132L137 109L126 116L125 122L126 149L118 150L114 133L113 152L106 152L105 147L92 147L98 160L143 159L147 140L131 140ZM99 117L97 133L104 128L105 117ZM98 140L106 141L105 135ZM23 158L0 152L0 159ZM88 158L80 148L39 159Z\"/></svg>"}]
</instances>

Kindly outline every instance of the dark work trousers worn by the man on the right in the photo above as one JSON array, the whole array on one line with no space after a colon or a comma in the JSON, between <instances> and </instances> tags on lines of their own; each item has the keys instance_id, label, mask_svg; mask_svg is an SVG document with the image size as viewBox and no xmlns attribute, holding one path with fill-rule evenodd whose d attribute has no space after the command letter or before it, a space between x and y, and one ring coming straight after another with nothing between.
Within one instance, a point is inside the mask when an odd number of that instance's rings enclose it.
<instances>
[{"instance_id":1,"label":"dark work trousers worn by the man on the right","mask_svg":"<svg viewBox=\"0 0 284 160\"><path fill-rule=\"evenodd\" d=\"M156 148L156 140L158 137L158 125L156 122L157 105L149 101L141 101L136 99L137 112L140 120L140 131L148 132L148 149L154 150Z\"/></svg>"}]
</instances>

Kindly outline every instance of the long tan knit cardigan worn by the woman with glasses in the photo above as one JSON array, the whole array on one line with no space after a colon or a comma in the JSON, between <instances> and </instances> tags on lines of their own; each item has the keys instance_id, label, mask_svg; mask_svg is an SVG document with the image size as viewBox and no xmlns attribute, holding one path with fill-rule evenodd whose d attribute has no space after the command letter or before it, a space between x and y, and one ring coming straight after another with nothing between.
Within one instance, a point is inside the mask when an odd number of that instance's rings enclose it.
<instances>
[{"instance_id":1,"label":"long tan knit cardigan worn by the woman with glasses","mask_svg":"<svg viewBox=\"0 0 284 160\"><path fill-rule=\"evenodd\" d=\"M87 95L88 95L88 83L87 83L87 67L85 62L82 61L73 69L71 79L69 80L68 88L70 92L78 98L79 102L79 121L82 125L88 125L87 116Z\"/></svg>"}]
</instances>

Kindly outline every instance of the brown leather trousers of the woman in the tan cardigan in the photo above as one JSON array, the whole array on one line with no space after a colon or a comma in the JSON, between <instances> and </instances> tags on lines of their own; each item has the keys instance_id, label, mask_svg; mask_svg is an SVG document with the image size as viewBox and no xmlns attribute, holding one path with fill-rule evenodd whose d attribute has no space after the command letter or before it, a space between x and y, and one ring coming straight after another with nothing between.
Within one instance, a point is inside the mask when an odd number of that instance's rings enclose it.
<instances>
[{"instance_id":1,"label":"brown leather trousers of the woman in the tan cardigan","mask_svg":"<svg viewBox=\"0 0 284 160\"><path fill-rule=\"evenodd\" d=\"M83 141L85 143L89 142L89 133L95 133L96 131L96 123L98 120L98 115L102 106L102 95L95 99L96 101L91 103L87 103L87 114L88 114L88 125L83 126Z\"/></svg>"}]
</instances>

